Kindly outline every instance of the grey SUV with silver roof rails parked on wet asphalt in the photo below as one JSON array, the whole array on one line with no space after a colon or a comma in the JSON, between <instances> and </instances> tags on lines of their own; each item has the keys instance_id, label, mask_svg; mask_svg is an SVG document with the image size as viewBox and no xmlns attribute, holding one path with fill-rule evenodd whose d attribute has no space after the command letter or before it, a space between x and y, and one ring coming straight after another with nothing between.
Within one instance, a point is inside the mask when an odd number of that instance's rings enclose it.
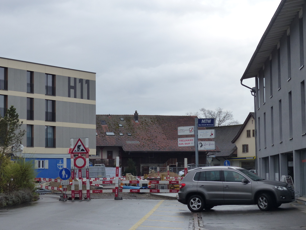
<instances>
[{"instance_id":1,"label":"grey SUV with silver roof rails parked on wet asphalt","mask_svg":"<svg viewBox=\"0 0 306 230\"><path fill-rule=\"evenodd\" d=\"M234 166L196 168L180 183L177 200L192 212L217 205L258 205L262 211L295 200L288 183L265 180Z\"/></svg>"}]
</instances>

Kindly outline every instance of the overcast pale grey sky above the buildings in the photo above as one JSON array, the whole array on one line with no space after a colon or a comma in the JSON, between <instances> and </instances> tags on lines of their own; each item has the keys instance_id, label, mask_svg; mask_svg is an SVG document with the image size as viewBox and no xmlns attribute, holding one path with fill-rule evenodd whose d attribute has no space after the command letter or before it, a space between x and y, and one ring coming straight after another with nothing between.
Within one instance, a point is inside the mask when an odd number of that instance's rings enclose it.
<instances>
[{"instance_id":1,"label":"overcast pale grey sky above the buildings","mask_svg":"<svg viewBox=\"0 0 306 230\"><path fill-rule=\"evenodd\" d=\"M97 114L221 107L243 123L240 78L280 0L0 3L0 57L96 72Z\"/></svg>"}]
</instances>

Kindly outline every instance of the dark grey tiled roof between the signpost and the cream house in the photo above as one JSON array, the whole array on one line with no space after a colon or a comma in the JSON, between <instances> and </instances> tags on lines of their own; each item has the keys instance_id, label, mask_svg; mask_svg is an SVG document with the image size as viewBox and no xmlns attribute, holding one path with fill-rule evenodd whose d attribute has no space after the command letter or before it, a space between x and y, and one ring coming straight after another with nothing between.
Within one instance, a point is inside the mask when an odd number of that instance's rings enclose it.
<instances>
[{"instance_id":1,"label":"dark grey tiled roof between the signpost and the cream house","mask_svg":"<svg viewBox=\"0 0 306 230\"><path fill-rule=\"evenodd\" d=\"M236 144L232 143L242 125L226 125L218 126L210 129L215 129L215 142L220 152L214 153L216 157L230 156L235 151Z\"/></svg>"}]
</instances>

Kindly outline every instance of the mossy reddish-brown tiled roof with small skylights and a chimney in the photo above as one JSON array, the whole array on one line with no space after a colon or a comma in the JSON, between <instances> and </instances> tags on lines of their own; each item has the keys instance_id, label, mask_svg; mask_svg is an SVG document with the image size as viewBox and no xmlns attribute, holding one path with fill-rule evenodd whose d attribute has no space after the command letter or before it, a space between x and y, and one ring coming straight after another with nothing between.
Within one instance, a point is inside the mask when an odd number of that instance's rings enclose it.
<instances>
[{"instance_id":1,"label":"mossy reddish-brown tiled roof with small skylights and a chimney","mask_svg":"<svg viewBox=\"0 0 306 230\"><path fill-rule=\"evenodd\" d=\"M195 151L193 146L178 147L177 144L177 138L189 136L178 136L177 127L193 126L194 120L194 116L138 115L139 122L135 122L134 115L96 115L96 144L121 146L124 151ZM101 121L106 125L101 125Z\"/></svg>"}]
</instances>

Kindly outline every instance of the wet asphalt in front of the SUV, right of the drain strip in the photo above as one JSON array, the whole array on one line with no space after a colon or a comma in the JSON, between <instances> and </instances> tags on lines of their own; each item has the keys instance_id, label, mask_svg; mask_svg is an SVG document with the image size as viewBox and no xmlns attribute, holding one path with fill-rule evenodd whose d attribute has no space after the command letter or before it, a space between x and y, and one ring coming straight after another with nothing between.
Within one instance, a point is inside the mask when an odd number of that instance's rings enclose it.
<instances>
[{"instance_id":1,"label":"wet asphalt in front of the SUV, right of the drain strip","mask_svg":"<svg viewBox=\"0 0 306 230\"><path fill-rule=\"evenodd\" d=\"M223 205L198 215L199 226L209 230L288 230L306 229L306 205L282 204L263 212L257 205Z\"/></svg>"}]
</instances>

